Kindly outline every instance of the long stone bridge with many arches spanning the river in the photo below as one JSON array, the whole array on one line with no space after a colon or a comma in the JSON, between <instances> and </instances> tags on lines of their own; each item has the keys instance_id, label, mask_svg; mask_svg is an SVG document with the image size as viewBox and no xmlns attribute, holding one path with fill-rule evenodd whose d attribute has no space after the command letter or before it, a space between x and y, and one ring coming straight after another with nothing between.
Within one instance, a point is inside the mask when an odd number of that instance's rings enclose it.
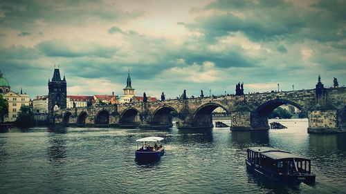
<instances>
[{"instance_id":1,"label":"long stone bridge with many arches spanning the river","mask_svg":"<svg viewBox=\"0 0 346 194\"><path fill-rule=\"evenodd\" d=\"M212 128L212 111L221 107L231 117L231 130L268 129L268 115L282 104L299 108L309 119L308 131L346 131L346 88L323 88L322 93L292 90L167 101L70 108L53 113L55 124L167 128L172 115L178 128Z\"/></svg>"}]
</instances>

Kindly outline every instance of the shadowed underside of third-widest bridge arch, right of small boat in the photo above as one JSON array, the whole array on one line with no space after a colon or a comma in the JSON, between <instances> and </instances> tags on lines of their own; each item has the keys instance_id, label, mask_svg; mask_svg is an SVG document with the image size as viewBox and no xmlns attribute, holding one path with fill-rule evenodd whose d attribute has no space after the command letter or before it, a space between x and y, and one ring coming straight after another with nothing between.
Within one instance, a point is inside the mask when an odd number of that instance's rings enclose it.
<instances>
[{"instance_id":1,"label":"shadowed underside of third-widest bridge arch, right of small boat","mask_svg":"<svg viewBox=\"0 0 346 194\"><path fill-rule=\"evenodd\" d=\"M156 108L150 119L150 125L172 127L172 115L170 114L172 112L177 113L172 106L163 105Z\"/></svg>"}]
</instances>

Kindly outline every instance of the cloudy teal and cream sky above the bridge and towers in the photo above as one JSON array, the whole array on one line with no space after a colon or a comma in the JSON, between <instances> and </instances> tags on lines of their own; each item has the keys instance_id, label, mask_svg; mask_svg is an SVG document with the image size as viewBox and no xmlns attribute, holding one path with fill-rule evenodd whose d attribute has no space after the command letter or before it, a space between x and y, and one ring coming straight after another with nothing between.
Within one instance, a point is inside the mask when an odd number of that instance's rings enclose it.
<instances>
[{"instance_id":1,"label":"cloudy teal and cream sky above the bridge and towers","mask_svg":"<svg viewBox=\"0 0 346 194\"><path fill-rule=\"evenodd\" d=\"M175 98L346 82L346 1L0 1L0 70L12 88L48 94Z\"/></svg>"}]
</instances>

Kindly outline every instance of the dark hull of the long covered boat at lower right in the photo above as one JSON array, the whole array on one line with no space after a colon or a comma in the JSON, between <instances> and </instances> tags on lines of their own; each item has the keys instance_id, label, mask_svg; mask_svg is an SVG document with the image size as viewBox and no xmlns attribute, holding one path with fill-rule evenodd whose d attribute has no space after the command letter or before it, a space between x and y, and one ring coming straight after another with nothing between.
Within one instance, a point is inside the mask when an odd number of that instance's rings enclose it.
<instances>
[{"instance_id":1,"label":"dark hull of the long covered boat at lower right","mask_svg":"<svg viewBox=\"0 0 346 194\"><path fill-rule=\"evenodd\" d=\"M281 174L281 173L274 173L273 171L270 171L258 164L253 164L252 162L249 162L246 159L246 167L260 175L263 175L264 177L271 178L272 180L275 180L277 182L282 182L285 184L300 184L304 182L305 184L314 184L316 181L316 175L309 174L309 173L297 173L293 175L287 175L287 174Z\"/></svg>"}]
</instances>

